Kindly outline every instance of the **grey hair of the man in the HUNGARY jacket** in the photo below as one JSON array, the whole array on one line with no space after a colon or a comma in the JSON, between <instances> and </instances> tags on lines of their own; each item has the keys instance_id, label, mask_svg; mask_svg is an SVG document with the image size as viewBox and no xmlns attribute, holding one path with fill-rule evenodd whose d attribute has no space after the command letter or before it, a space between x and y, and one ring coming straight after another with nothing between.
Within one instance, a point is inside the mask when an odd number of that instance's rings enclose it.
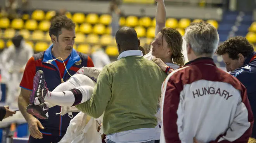
<instances>
[{"instance_id":1,"label":"grey hair of the man in the HUNGARY jacket","mask_svg":"<svg viewBox=\"0 0 256 143\"><path fill-rule=\"evenodd\" d=\"M195 22L186 28L185 40L190 44L196 56L213 55L219 44L219 34L213 25L207 22Z\"/></svg>"}]
</instances>

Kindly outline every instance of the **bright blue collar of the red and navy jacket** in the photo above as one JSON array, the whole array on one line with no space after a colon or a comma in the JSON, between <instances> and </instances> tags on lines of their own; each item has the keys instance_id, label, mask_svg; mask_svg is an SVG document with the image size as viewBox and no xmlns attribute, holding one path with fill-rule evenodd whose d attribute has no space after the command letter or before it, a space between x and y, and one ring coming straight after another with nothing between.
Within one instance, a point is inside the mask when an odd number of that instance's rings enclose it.
<instances>
[{"instance_id":1,"label":"bright blue collar of the red and navy jacket","mask_svg":"<svg viewBox=\"0 0 256 143\"><path fill-rule=\"evenodd\" d=\"M53 44L50 45L50 47L48 47L47 50L45 50L45 53L44 53L44 56L43 56L43 62L47 62L48 60L52 60L53 59L52 47L53 47ZM65 59L63 59L63 60L65 60ZM81 60L80 56L77 54L76 50L73 49L71 54L70 54L69 60L67 62L67 65L66 65L67 70L69 70L70 67L73 66L74 63L76 63L76 62L78 62L80 60ZM53 64L59 70L59 68L58 68L58 66L57 66L55 61L53 61L51 64ZM67 71L65 70L64 76L65 76L66 72Z\"/></svg>"}]
</instances>

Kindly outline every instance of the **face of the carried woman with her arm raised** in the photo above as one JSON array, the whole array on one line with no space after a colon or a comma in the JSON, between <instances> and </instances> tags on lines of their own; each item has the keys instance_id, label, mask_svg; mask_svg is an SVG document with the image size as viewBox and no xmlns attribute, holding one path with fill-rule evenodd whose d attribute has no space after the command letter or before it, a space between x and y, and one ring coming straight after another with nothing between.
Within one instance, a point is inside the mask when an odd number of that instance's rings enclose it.
<instances>
[{"instance_id":1,"label":"face of the carried woman with her arm raised","mask_svg":"<svg viewBox=\"0 0 256 143\"><path fill-rule=\"evenodd\" d=\"M152 55L160 59L170 59L171 49L168 47L165 37L159 32L156 39L152 42Z\"/></svg>"}]
</instances>

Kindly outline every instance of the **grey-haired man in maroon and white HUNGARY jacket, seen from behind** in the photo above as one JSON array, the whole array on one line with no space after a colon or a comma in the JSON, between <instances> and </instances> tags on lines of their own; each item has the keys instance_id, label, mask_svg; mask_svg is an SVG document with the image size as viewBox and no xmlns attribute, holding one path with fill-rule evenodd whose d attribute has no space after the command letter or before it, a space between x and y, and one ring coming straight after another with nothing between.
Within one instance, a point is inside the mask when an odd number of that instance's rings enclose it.
<instances>
[{"instance_id":1,"label":"grey-haired man in maroon and white HUNGARY jacket, seen from behind","mask_svg":"<svg viewBox=\"0 0 256 143\"><path fill-rule=\"evenodd\" d=\"M189 62L162 85L161 143L247 143L253 113L246 88L213 62L219 36L206 22L185 32Z\"/></svg>"}]
</instances>

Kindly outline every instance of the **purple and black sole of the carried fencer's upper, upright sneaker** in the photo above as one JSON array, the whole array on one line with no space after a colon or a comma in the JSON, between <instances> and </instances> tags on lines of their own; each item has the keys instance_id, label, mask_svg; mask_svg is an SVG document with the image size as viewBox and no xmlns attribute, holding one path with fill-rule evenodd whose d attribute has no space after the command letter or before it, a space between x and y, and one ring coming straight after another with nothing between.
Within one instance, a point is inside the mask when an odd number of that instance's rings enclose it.
<instances>
[{"instance_id":1,"label":"purple and black sole of the carried fencer's upper, upright sneaker","mask_svg":"<svg viewBox=\"0 0 256 143\"><path fill-rule=\"evenodd\" d=\"M36 97L36 91L38 89L38 85L40 82L40 77L43 75L43 71L39 70L36 72L35 77L33 79L33 90L32 93L29 96L29 102L30 104L35 104L35 97ZM40 101L39 101L40 102ZM40 102L41 103L41 102Z\"/></svg>"}]
</instances>

